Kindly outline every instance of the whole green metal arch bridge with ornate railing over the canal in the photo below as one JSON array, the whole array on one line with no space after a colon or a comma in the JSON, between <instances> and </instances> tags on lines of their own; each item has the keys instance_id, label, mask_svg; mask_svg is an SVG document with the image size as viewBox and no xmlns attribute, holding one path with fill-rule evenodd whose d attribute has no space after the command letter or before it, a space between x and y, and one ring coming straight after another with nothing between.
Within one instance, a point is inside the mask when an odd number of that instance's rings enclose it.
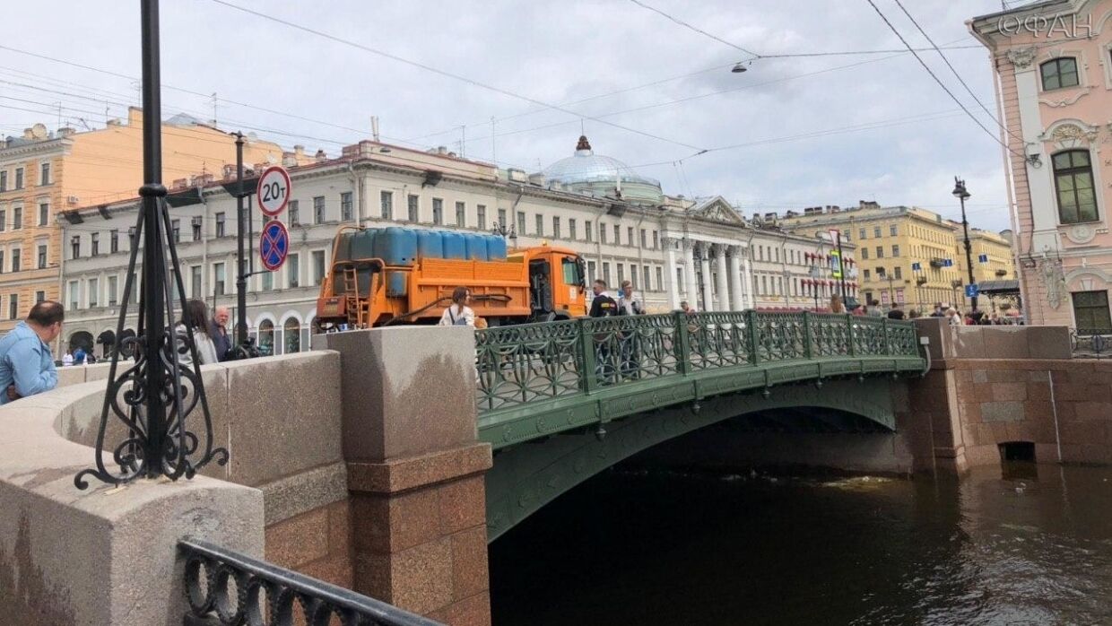
<instances>
[{"instance_id":1,"label":"whole green metal arch bridge with ornate railing over the canal","mask_svg":"<svg viewBox=\"0 0 1112 626\"><path fill-rule=\"evenodd\" d=\"M746 413L828 407L851 429L892 431L886 385L824 385L926 365L913 322L810 311L618 316L475 337L479 439L495 449L490 540L606 467Z\"/></svg>"}]
</instances>

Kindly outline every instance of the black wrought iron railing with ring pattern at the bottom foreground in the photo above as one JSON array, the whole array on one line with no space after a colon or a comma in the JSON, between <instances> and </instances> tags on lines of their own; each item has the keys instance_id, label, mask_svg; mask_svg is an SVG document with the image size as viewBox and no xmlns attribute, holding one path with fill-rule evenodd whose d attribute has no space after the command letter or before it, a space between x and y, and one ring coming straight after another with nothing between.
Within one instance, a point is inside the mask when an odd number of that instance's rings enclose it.
<instances>
[{"instance_id":1,"label":"black wrought iron railing with ring pattern at the bottom foreground","mask_svg":"<svg viewBox=\"0 0 1112 626\"><path fill-rule=\"evenodd\" d=\"M205 541L182 540L183 624L221 626L441 626L350 589ZM296 617L304 616L304 622Z\"/></svg>"}]
</instances>

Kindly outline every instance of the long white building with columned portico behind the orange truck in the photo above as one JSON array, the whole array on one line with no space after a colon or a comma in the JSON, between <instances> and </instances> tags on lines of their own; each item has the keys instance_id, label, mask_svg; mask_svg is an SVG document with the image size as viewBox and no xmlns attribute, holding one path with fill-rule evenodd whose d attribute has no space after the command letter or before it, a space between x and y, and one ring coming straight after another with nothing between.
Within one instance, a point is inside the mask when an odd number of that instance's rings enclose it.
<instances>
[{"instance_id":1,"label":"long white building with columned portico behind the orange truck","mask_svg":"<svg viewBox=\"0 0 1112 626\"><path fill-rule=\"evenodd\" d=\"M578 156L589 166L594 159L587 152ZM606 167L613 162L608 159ZM497 229L510 247L566 246L584 257L589 279L600 278L612 289L632 281L651 312L673 310L685 299L701 310L756 306L749 246L764 235L721 198L693 202L663 192L657 198L653 186L658 190L658 183L623 167L615 168L615 192L608 196L599 190L599 176L589 189L580 188L575 172L583 168L566 163L552 178L527 176L446 152L371 141L349 146L336 159L290 167L290 203L279 216L290 231L290 252L274 272L256 259L257 274L247 281L249 334L270 354L308 349L332 239L338 228L359 225ZM229 331L237 321L237 209L225 189L231 182L196 177L170 190L186 295L203 299L210 310L231 308ZM634 193L624 197L617 189L623 183ZM138 208L133 199L62 216L63 349L115 340ZM257 240L261 216L254 207L250 213ZM138 288L132 287L132 302ZM137 312L136 306L129 308L126 328L133 330ZM100 355L102 348L95 351Z\"/></svg>"}]
</instances>

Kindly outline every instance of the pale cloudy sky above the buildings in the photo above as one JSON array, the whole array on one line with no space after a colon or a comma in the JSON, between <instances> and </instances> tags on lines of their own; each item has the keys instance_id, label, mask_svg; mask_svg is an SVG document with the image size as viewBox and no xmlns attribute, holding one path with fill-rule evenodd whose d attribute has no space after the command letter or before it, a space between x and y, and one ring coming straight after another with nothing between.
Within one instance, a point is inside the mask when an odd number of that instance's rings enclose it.
<instances>
[{"instance_id":1,"label":"pale cloudy sky above the buildings","mask_svg":"<svg viewBox=\"0 0 1112 626\"><path fill-rule=\"evenodd\" d=\"M722 196L746 216L875 200L960 219L961 176L970 222L1010 228L999 127L981 108L996 112L991 63L964 23L1000 0L902 0L955 47L944 53L975 99L937 52L920 56L992 132L909 52L776 58L902 50L867 0L226 1L162 1L163 117L215 116L338 155L370 138L376 116L383 141L530 172L570 156L582 131L666 193ZM930 47L895 0L874 1ZM138 9L6 7L0 133L126 118L139 102Z\"/></svg>"}]
</instances>

